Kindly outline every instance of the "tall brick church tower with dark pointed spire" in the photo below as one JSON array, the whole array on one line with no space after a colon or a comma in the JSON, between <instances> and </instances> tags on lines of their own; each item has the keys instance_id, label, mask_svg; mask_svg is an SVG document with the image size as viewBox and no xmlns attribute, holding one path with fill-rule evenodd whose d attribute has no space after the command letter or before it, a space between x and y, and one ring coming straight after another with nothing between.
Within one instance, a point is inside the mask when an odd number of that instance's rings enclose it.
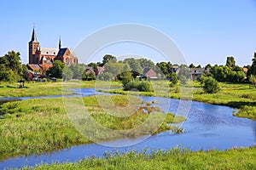
<instances>
[{"instance_id":1,"label":"tall brick church tower with dark pointed spire","mask_svg":"<svg viewBox=\"0 0 256 170\"><path fill-rule=\"evenodd\" d=\"M33 28L31 41L28 42L29 64L38 64L38 56L36 54L38 48L39 42L37 41L35 28Z\"/></svg>"}]
</instances>

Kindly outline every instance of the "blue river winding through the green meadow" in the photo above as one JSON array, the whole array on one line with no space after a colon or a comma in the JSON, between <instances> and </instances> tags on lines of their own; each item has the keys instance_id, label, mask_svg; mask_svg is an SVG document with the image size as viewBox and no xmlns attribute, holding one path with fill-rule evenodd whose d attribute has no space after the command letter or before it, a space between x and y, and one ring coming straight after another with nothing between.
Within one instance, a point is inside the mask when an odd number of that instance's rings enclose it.
<instances>
[{"instance_id":1,"label":"blue river winding through the green meadow","mask_svg":"<svg viewBox=\"0 0 256 170\"><path fill-rule=\"evenodd\" d=\"M96 93L94 89L91 88L84 88L81 89L81 92L79 90L75 90L73 95L86 96L94 94L102 93ZM177 106L180 102L180 100L177 99L154 97L141 98L148 102L151 102L152 100L160 101L155 105L160 106L165 111L171 111L174 113L177 112ZM31 99L31 97L29 97L29 99ZM166 102L169 104L167 107ZM113 150L140 151L145 147L149 148L150 150L168 150L175 146L188 147L190 150L227 150L233 147L249 147L256 144L256 122L249 119L232 116L233 111L233 108L227 106L208 105L193 101L189 111L188 120L183 123L185 133L159 133L157 135L150 136L141 143L128 147L115 148L101 144L83 144L39 156L21 156L0 162L0 169L3 169L4 167L35 166L36 164L41 163L50 164L52 162L79 161L85 157L103 156L106 151L110 152ZM119 139L106 142L105 144L121 145L134 142L132 140L138 140L138 138Z\"/></svg>"}]
</instances>

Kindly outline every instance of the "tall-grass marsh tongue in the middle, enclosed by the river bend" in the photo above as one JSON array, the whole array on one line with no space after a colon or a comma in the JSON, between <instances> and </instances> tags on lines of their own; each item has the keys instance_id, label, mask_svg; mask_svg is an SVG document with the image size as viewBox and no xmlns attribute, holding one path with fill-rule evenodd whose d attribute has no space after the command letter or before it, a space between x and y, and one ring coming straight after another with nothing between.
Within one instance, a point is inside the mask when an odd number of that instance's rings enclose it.
<instances>
[{"instance_id":1,"label":"tall-grass marsh tongue in the middle, enclosed by the river bend","mask_svg":"<svg viewBox=\"0 0 256 170\"><path fill-rule=\"evenodd\" d=\"M68 98L81 99L81 98ZM108 100L109 96L101 96L100 99ZM143 101L135 96L127 99L126 96L116 95L110 96L113 105L119 107L119 114L124 110L132 109L132 105L136 105L135 111L131 116L111 116L109 111L98 104L97 96L84 97L84 105L90 116L102 127L108 127L114 130L131 129L127 133L114 133L111 135L100 133L102 140L119 139L126 136L142 135L143 133L158 133L165 130L172 130L172 126L168 123L174 122L173 114L162 114L159 108L143 105ZM132 105L129 105L129 100ZM125 109L126 108L126 109ZM84 138L74 127L70 119L68 119L65 111L63 100L59 99L27 99L23 101L9 102L1 105L0 111L2 116L0 119L0 160L14 156L40 154L53 150L67 148L76 144L91 143L89 139ZM157 111L152 120L159 122L158 129L152 129L152 124L146 123L147 131L135 132L134 127L141 125L148 120L147 111ZM131 112L130 112L131 113ZM181 122L183 118L176 119ZM82 124L84 120L81 120ZM86 127L90 129L90 127ZM174 130L177 130L173 128ZM96 130L96 129L93 129ZM136 130L136 129L133 129ZM150 131L151 130L151 131Z\"/></svg>"}]
</instances>

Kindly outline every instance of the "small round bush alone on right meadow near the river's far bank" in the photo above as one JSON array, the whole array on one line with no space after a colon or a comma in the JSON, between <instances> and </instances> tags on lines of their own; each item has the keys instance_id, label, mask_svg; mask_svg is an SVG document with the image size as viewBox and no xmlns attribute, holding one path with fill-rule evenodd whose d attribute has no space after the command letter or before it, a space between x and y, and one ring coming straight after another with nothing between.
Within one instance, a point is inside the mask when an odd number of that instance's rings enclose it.
<instances>
[{"instance_id":1,"label":"small round bush alone on right meadow near the river's far bank","mask_svg":"<svg viewBox=\"0 0 256 170\"><path fill-rule=\"evenodd\" d=\"M207 94L215 94L219 91L218 81L213 77L204 77L203 90Z\"/></svg>"}]
</instances>

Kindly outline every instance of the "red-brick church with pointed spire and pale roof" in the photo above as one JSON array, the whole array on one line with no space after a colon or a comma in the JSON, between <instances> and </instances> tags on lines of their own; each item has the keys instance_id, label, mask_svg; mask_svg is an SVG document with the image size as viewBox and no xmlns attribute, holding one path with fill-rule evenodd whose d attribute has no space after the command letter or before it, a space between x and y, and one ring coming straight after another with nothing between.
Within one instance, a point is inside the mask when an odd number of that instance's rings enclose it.
<instances>
[{"instance_id":1,"label":"red-brick church with pointed spire and pale roof","mask_svg":"<svg viewBox=\"0 0 256 170\"><path fill-rule=\"evenodd\" d=\"M59 48L42 48L37 40L35 29L32 31L31 41L28 42L28 64L32 71L44 72L52 67L54 60L61 60L67 66L78 64L78 58L73 56L69 48L61 48L61 38Z\"/></svg>"}]
</instances>

